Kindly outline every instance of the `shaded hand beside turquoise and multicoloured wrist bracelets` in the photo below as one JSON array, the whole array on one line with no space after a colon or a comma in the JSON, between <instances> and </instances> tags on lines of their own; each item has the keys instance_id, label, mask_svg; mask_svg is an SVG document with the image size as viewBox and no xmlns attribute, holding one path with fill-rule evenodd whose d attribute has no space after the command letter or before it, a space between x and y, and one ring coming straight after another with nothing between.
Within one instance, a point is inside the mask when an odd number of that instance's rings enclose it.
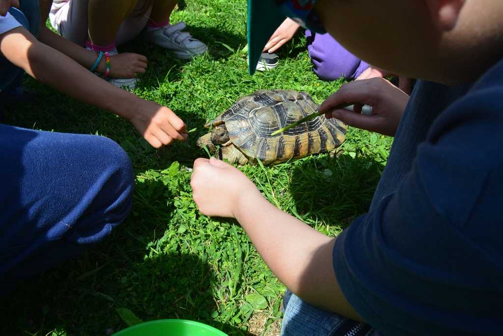
<instances>
[{"instance_id":1,"label":"shaded hand beside turquoise and multicoloured wrist bracelets","mask_svg":"<svg viewBox=\"0 0 503 336\"><path fill-rule=\"evenodd\" d=\"M147 57L132 53L123 52L110 56L110 77L112 78L135 78L137 74L144 74L147 69ZM105 57L103 57L98 68L100 73L105 73Z\"/></svg>"}]
</instances>

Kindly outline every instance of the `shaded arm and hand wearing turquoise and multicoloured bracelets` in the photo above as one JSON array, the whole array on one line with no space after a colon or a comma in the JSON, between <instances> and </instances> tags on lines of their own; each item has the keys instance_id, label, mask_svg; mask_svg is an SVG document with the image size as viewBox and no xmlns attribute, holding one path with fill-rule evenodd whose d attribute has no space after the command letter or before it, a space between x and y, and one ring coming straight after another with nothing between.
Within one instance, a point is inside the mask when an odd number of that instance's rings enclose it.
<instances>
[{"instance_id":1,"label":"shaded arm and hand wearing turquoise and multicoloured bracelets","mask_svg":"<svg viewBox=\"0 0 503 336\"><path fill-rule=\"evenodd\" d=\"M45 25L52 0L40 0L40 35L39 41L48 46L61 51L68 57L74 59L86 69L91 69L96 61L96 52L82 48L70 40L54 33ZM136 74L144 74L147 68L147 57L125 52L110 56L110 77L113 78L135 78ZM105 57L98 64L97 72L104 74L106 71Z\"/></svg>"}]
</instances>

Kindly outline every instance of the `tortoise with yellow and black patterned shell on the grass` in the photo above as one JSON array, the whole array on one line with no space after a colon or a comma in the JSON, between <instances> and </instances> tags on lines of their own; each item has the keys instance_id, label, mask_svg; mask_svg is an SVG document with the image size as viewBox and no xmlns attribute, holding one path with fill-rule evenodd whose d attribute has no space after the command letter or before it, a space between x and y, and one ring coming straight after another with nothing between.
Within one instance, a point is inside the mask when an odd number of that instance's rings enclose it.
<instances>
[{"instance_id":1,"label":"tortoise with yellow and black patterned shell on the grass","mask_svg":"<svg viewBox=\"0 0 503 336\"><path fill-rule=\"evenodd\" d=\"M346 138L346 125L318 116L276 136L271 133L315 113L318 105L306 92L260 90L239 98L205 127L212 131L197 145L210 151L219 145L220 159L229 163L273 165L332 150Z\"/></svg>"}]
</instances>

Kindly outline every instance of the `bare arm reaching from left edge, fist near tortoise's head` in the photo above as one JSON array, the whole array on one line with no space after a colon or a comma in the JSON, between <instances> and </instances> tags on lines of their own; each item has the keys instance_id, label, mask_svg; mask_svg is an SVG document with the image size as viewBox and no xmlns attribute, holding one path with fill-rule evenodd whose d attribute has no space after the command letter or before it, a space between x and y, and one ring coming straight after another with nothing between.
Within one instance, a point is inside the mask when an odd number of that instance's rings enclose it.
<instances>
[{"instance_id":1,"label":"bare arm reaching from left edge, fist near tortoise's head","mask_svg":"<svg viewBox=\"0 0 503 336\"><path fill-rule=\"evenodd\" d=\"M128 118L153 147L187 139L185 123L171 109L116 88L68 56L40 43L22 27L0 34L0 51L33 78Z\"/></svg>"}]
</instances>

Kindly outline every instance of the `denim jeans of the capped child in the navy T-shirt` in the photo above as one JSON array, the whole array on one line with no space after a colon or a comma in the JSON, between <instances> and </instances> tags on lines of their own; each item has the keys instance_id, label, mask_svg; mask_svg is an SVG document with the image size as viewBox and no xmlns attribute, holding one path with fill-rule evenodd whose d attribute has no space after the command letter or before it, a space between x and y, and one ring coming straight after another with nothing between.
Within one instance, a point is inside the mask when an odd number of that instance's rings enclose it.
<instances>
[{"instance_id":1,"label":"denim jeans of the capped child in the navy T-shirt","mask_svg":"<svg viewBox=\"0 0 503 336\"><path fill-rule=\"evenodd\" d=\"M447 87L430 82L417 82L400 120L386 168L370 205L370 211L377 207L382 198L398 189L401 180L412 167L417 145L426 139L430 125L448 105L464 95L468 89L469 85ZM350 322L338 314L317 309L292 295L283 317L282 334L288 336L344 335L345 333L340 332L344 331L345 323ZM354 323L356 322L353 321ZM377 336L379 332L370 328L364 335Z\"/></svg>"}]
</instances>

